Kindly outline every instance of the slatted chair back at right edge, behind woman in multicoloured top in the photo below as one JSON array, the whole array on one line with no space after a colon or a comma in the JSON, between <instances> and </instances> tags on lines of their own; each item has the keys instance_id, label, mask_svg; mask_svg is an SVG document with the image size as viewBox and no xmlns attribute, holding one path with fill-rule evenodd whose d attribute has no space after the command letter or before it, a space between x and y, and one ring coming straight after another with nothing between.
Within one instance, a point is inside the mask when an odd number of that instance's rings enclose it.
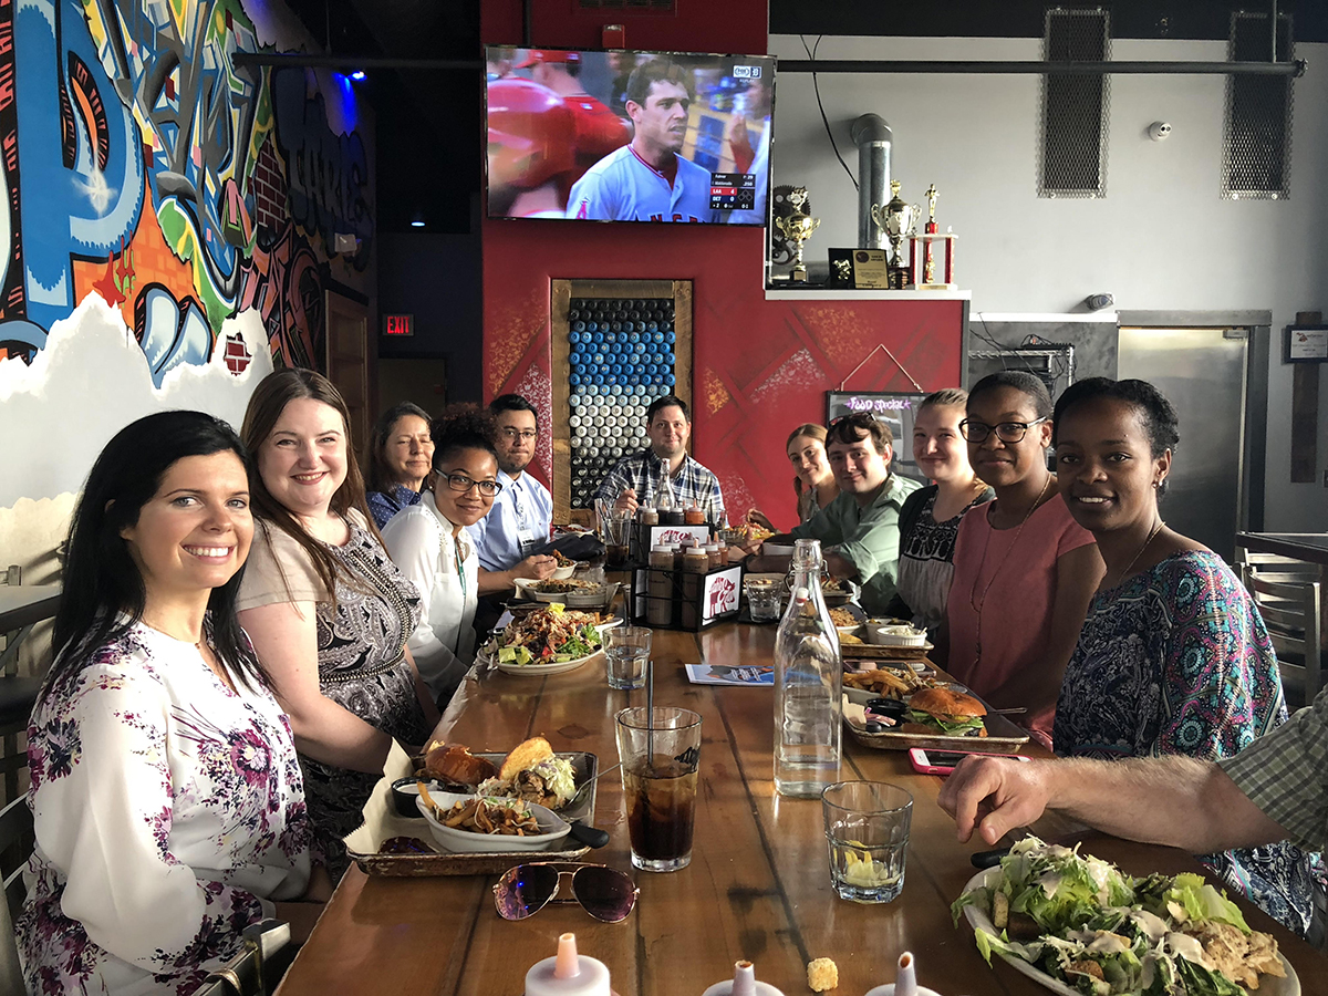
<instances>
[{"instance_id":1,"label":"slatted chair back at right edge, behind woman in multicoloured top","mask_svg":"<svg viewBox=\"0 0 1328 996\"><path fill-rule=\"evenodd\" d=\"M1305 580L1301 574L1247 567L1246 588L1278 652L1288 708L1308 705L1323 687L1319 582Z\"/></svg>"}]
</instances>

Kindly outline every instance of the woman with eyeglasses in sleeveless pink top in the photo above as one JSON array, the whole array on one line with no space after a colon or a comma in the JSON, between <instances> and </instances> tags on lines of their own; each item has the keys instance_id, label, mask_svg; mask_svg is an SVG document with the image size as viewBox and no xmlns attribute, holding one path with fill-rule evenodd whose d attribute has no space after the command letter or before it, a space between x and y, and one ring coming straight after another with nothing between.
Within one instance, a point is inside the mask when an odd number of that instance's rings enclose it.
<instances>
[{"instance_id":1,"label":"woman with eyeglasses in sleeveless pink top","mask_svg":"<svg viewBox=\"0 0 1328 996\"><path fill-rule=\"evenodd\" d=\"M1070 518L1046 469L1052 398L1037 377L1003 371L968 394L959 424L995 501L968 511L955 540L950 672L1050 748L1061 679L1102 578L1093 534Z\"/></svg>"}]
</instances>

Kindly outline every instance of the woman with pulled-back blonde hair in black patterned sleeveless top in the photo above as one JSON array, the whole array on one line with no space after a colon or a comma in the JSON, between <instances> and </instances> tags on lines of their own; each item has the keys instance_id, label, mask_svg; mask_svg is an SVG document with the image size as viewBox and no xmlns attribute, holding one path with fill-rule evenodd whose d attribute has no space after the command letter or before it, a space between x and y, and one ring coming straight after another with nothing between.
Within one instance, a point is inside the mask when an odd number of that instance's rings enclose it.
<instances>
[{"instance_id":1,"label":"woman with pulled-back blonde hair in black patterned sleeveless top","mask_svg":"<svg viewBox=\"0 0 1328 996\"><path fill-rule=\"evenodd\" d=\"M963 388L946 388L923 398L914 418L914 462L935 483L919 487L899 510L899 579L886 610L924 627L938 643L932 659L944 667L942 623L955 576L955 538L965 511L995 494L979 481L959 432L968 404Z\"/></svg>"}]
</instances>

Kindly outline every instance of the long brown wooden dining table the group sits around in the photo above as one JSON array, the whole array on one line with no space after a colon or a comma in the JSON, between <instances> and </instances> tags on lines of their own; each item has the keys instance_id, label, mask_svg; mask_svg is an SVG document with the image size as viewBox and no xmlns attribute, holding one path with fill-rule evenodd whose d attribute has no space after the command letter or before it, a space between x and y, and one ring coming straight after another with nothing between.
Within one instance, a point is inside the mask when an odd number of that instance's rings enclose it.
<instances>
[{"instance_id":1,"label":"long brown wooden dining table the group sits around","mask_svg":"<svg viewBox=\"0 0 1328 996\"><path fill-rule=\"evenodd\" d=\"M861 996L894 980L903 951L916 956L919 981L946 996L1045 993L999 960L988 968L968 927L951 922L950 903L975 874L969 854L987 845L956 841L936 806L942 780L915 774L900 752L866 749L847 736L842 777L906 786L914 795L912 837L904 890L894 903L859 906L834 895L821 803L773 790L773 692L692 685L683 669L703 660L769 663L773 640L770 627L738 624L701 635L656 632L656 704L695 709L704 724L696 845L683 871L636 871L620 782L600 781L596 825L611 842L587 859L637 880L640 899L624 923L599 923L575 904L509 923L494 911L493 878L368 878L352 869L279 996L521 996L526 971L554 954L563 931L608 965L622 996L699 996L730 976L740 957L788 996L807 993L805 965L819 956L839 965L835 993ZM542 733L556 750L591 750L608 766L618 760L614 714L643 701L641 692L611 692L598 660L547 679L471 673L440 730L475 750L506 750ZM1053 837L1069 827L1048 821L1037 829ZM1181 851L1101 835L1089 835L1085 851L1133 874L1198 870ZM1242 906L1251 926L1278 936L1304 992L1328 993L1328 959Z\"/></svg>"}]
</instances>

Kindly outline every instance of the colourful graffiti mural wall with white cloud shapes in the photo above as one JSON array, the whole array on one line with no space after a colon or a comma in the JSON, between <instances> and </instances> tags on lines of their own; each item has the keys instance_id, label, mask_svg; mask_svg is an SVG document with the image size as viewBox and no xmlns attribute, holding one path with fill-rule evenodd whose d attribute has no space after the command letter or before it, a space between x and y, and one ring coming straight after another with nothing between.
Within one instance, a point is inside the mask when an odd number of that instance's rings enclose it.
<instances>
[{"instance_id":1,"label":"colourful graffiti mural wall with white cloud shapes","mask_svg":"<svg viewBox=\"0 0 1328 996\"><path fill-rule=\"evenodd\" d=\"M372 118L279 0L0 0L0 570L56 579L93 459L197 408L239 425L374 284ZM337 252L336 246L347 251Z\"/></svg>"}]
</instances>

